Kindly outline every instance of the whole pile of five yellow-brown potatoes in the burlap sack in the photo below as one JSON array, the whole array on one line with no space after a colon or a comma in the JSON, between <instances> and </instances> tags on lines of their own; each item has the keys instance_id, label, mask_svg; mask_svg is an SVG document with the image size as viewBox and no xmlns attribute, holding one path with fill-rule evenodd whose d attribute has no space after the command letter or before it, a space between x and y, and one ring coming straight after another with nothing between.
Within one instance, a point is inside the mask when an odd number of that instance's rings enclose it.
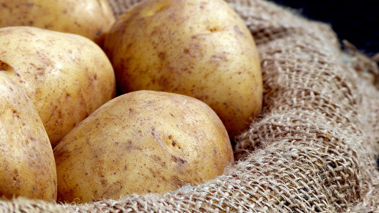
<instances>
[{"instance_id":1,"label":"whole pile of five yellow-brown potatoes in the burlap sack","mask_svg":"<svg viewBox=\"0 0 379 213\"><path fill-rule=\"evenodd\" d=\"M262 107L223 0L0 0L0 197L91 202L221 175Z\"/></svg>"}]
</instances>

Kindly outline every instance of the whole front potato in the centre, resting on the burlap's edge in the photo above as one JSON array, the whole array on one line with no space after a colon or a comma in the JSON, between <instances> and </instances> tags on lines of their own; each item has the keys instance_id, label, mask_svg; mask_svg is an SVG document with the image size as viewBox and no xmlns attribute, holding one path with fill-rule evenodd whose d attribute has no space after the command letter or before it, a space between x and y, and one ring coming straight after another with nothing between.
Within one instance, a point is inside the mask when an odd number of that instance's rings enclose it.
<instances>
[{"instance_id":1,"label":"whole front potato in the centre, resting on the burlap's edge","mask_svg":"<svg viewBox=\"0 0 379 213\"><path fill-rule=\"evenodd\" d=\"M69 202L170 192L221 175L234 160L226 129L209 106L147 90L104 104L53 151L58 198Z\"/></svg>"}]
</instances>

